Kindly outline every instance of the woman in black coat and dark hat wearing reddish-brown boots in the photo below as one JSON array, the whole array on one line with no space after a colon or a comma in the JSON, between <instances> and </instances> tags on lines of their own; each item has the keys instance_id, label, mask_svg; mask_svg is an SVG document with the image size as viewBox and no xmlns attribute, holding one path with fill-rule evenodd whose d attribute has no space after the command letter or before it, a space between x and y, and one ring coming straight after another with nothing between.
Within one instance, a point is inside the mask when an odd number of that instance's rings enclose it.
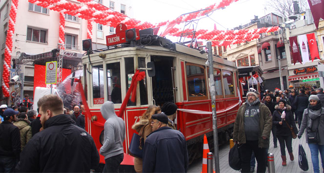
<instances>
[{"instance_id":1,"label":"woman in black coat and dark hat wearing reddish-brown boots","mask_svg":"<svg viewBox=\"0 0 324 173\"><path fill-rule=\"evenodd\" d=\"M285 100L280 100L278 105L275 106L275 111L272 115L273 126L276 126L277 138L280 144L281 158L283 159L283 166L286 166L286 152L285 146L287 147L290 160L294 160L292 153L292 135L287 123L292 127L293 131L297 134L298 130L295 125L294 115L291 112L291 107L286 105ZM282 118L282 116L284 116Z\"/></svg>"}]
</instances>

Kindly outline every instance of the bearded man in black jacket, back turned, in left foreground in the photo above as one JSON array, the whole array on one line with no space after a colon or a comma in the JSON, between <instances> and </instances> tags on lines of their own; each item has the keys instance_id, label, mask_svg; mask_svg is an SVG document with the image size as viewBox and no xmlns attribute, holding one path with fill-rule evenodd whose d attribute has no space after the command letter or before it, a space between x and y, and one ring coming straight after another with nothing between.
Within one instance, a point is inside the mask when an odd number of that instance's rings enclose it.
<instances>
[{"instance_id":1,"label":"bearded man in black jacket, back turned, in left foreground","mask_svg":"<svg viewBox=\"0 0 324 173\"><path fill-rule=\"evenodd\" d=\"M43 130L21 152L16 172L85 173L96 169L99 154L93 138L63 114L63 101L54 94L37 103Z\"/></svg>"}]
</instances>

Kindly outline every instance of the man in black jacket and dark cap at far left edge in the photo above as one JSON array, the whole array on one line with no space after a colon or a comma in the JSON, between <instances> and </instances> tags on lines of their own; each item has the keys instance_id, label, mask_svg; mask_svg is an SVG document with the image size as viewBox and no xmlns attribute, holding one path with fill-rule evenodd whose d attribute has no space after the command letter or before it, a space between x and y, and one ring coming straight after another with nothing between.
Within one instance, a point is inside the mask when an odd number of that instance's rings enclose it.
<instances>
[{"instance_id":1,"label":"man in black jacket and dark cap at far left edge","mask_svg":"<svg viewBox=\"0 0 324 173\"><path fill-rule=\"evenodd\" d=\"M12 122L18 111L8 108L0 124L0 173L12 173L20 156L20 131Z\"/></svg>"}]
</instances>

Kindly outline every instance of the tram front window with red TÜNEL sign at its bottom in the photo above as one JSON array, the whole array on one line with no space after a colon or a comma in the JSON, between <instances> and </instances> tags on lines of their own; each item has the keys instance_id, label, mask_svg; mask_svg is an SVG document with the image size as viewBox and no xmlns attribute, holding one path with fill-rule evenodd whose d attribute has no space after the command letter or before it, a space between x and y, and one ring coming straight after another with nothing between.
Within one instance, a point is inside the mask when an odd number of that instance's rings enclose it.
<instances>
[{"instance_id":1,"label":"tram front window with red T\u00dcNEL sign at its bottom","mask_svg":"<svg viewBox=\"0 0 324 173\"><path fill-rule=\"evenodd\" d=\"M103 104L103 67L96 65L92 67L92 94L93 104Z\"/></svg>"}]
</instances>

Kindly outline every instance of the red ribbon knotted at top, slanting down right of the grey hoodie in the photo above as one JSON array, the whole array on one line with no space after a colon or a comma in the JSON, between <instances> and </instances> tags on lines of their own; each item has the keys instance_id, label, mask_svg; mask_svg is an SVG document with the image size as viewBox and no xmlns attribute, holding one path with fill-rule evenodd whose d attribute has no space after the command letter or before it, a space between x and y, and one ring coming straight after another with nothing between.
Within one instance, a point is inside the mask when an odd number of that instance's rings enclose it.
<instances>
[{"instance_id":1,"label":"red ribbon knotted at top, slanting down right of the grey hoodie","mask_svg":"<svg viewBox=\"0 0 324 173\"><path fill-rule=\"evenodd\" d=\"M140 72L140 70L136 70L135 74L132 77L132 83L130 84L128 91L126 93L126 96L125 96L124 100L122 101L121 109L118 114L119 117L122 117L122 115L124 114L124 110L126 108L126 104L128 103L129 96L131 93L132 93L131 101L135 102L137 82L142 81L144 79L144 77L145 77L144 71Z\"/></svg>"}]
</instances>

